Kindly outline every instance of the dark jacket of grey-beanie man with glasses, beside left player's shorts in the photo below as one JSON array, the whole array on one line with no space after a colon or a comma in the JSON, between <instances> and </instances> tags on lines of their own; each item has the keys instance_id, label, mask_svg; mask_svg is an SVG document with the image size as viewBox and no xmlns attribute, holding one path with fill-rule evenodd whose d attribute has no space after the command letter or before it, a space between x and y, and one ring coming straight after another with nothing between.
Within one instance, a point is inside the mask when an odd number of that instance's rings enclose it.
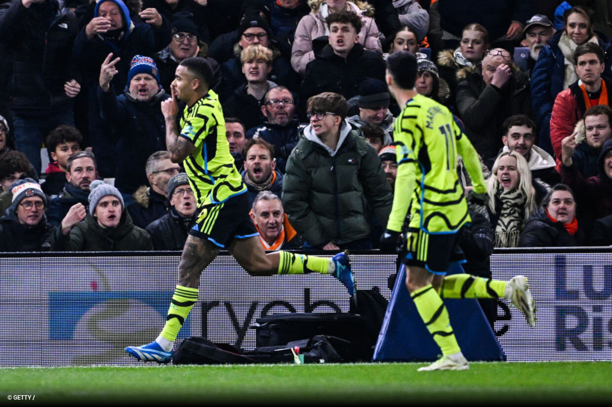
<instances>
[{"instance_id":1,"label":"dark jacket of grey-beanie man with glasses, beside left player's shorts","mask_svg":"<svg viewBox=\"0 0 612 407\"><path fill-rule=\"evenodd\" d=\"M181 218L171 207L169 213L151 222L146 231L151 235L154 250L182 250L194 223L195 215Z\"/></svg>"}]
</instances>

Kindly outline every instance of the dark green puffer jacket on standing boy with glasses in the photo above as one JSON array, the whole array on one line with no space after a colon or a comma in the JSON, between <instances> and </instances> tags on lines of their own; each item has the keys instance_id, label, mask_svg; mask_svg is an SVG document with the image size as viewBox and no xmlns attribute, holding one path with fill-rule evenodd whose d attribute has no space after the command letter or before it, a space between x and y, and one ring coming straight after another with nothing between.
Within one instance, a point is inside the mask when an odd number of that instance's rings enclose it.
<instances>
[{"instance_id":1,"label":"dark green puffer jacket on standing boy with glasses","mask_svg":"<svg viewBox=\"0 0 612 407\"><path fill-rule=\"evenodd\" d=\"M334 156L315 138L310 125L302 130L283 178L283 206L297 233L312 246L367 238L368 208L386 226L393 197L376 150L346 123Z\"/></svg>"}]
</instances>

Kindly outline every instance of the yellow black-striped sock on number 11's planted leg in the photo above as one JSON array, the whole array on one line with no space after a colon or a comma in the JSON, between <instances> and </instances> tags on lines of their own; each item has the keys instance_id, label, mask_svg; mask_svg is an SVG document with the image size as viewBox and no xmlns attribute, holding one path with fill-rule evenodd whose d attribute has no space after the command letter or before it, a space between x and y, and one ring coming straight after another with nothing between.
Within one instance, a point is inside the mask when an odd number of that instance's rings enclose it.
<instances>
[{"instance_id":1,"label":"yellow black-striped sock on number 11's planted leg","mask_svg":"<svg viewBox=\"0 0 612 407\"><path fill-rule=\"evenodd\" d=\"M431 284L410 293L410 296L442 354L447 356L460 352L457 338L450 326L449 312Z\"/></svg>"}]
</instances>

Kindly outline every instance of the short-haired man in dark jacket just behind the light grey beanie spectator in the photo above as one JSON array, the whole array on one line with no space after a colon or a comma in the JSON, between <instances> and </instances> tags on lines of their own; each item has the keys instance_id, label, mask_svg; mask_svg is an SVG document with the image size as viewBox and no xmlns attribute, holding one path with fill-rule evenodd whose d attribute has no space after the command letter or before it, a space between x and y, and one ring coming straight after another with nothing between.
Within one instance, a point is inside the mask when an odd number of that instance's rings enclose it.
<instances>
[{"instance_id":1,"label":"short-haired man in dark jacket just behind the light grey beanie spectator","mask_svg":"<svg viewBox=\"0 0 612 407\"><path fill-rule=\"evenodd\" d=\"M89 185L98 177L94 153L76 152L68 158L66 183L62 192L51 199L47 209L49 224L59 226L73 205L89 205Z\"/></svg>"}]
</instances>

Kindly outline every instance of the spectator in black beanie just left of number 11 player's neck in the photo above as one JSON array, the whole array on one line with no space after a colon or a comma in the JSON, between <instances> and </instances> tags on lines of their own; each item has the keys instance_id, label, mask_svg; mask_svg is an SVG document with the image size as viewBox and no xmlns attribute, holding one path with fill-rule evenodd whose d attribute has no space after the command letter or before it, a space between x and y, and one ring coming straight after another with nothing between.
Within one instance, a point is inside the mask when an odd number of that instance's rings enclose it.
<instances>
[{"instance_id":1,"label":"spectator in black beanie just left of number 11 player's neck","mask_svg":"<svg viewBox=\"0 0 612 407\"><path fill-rule=\"evenodd\" d=\"M383 145L391 144L395 118L389 111L391 95L387 85L379 79L365 79L359 86L359 95L352 100L357 100L359 114L348 117L346 121L353 127L362 127L368 123L382 128L385 133Z\"/></svg>"}]
</instances>

